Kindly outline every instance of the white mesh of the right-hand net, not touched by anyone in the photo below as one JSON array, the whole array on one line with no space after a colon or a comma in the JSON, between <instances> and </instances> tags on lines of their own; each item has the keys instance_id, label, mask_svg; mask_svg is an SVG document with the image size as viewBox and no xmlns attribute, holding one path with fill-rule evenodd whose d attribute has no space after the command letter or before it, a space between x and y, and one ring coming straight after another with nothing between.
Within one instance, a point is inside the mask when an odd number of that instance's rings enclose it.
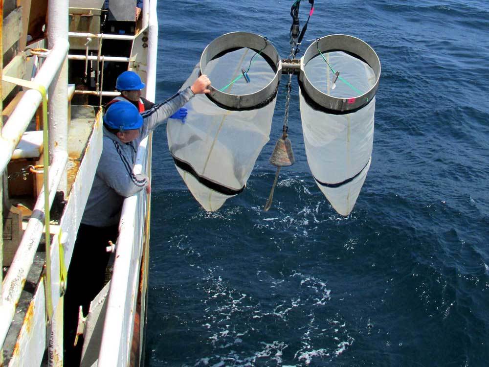
<instances>
[{"instance_id":1,"label":"white mesh of the right-hand net, not touched by anyone","mask_svg":"<svg viewBox=\"0 0 489 367\"><path fill-rule=\"evenodd\" d=\"M368 64L342 51L312 58L304 70L316 89L337 98L356 98L376 82ZM333 84L336 71L340 73ZM348 215L370 167L375 97L356 112L342 115L314 109L302 90L299 98L311 173L333 208Z\"/></svg>"}]
</instances>

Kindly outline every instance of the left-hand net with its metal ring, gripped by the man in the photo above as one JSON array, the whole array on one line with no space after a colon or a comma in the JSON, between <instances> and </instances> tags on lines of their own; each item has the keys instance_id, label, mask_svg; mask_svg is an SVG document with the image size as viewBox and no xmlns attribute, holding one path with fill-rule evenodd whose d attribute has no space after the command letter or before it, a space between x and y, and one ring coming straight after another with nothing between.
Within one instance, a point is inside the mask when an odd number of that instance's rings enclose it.
<instances>
[{"instance_id":1,"label":"left-hand net with its metal ring, gripped by the man","mask_svg":"<svg viewBox=\"0 0 489 367\"><path fill-rule=\"evenodd\" d=\"M204 49L183 85L207 74L214 86L186 104L185 123L169 119L167 125L178 173L205 210L219 209L244 190L269 139L281 69L266 37L233 32Z\"/></svg>"}]
</instances>

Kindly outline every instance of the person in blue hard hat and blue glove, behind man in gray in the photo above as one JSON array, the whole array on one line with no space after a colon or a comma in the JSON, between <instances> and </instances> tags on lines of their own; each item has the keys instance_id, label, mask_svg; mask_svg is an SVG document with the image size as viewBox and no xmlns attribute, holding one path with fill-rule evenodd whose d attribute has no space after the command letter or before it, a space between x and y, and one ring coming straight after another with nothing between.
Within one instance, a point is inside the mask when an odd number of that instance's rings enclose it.
<instances>
[{"instance_id":1,"label":"person in blue hard hat and blue glove, behind man in gray","mask_svg":"<svg viewBox=\"0 0 489 367\"><path fill-rule=\"evenodd\" d=\"M146 98L141 96L141 91L146 85L141 81L139 75L134 71L124 71L117 77L115 89L121 93L121 95L113 98L107 105L105 109L109 108L111 104L118 101L129 101L131 102L140 113L149 110L155 104L148 101ZM187 109L185 107L180 108L175 114L171 115L170 118L178 118L185 121L185 116L187 115Z\"/></svg>"}]
</instances>

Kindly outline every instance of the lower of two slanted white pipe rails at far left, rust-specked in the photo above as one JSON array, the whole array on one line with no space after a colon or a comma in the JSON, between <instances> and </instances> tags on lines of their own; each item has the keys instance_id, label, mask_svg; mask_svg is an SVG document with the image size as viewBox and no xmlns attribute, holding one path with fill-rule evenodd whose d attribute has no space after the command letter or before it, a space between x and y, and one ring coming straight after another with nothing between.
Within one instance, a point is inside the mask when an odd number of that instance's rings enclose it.
<instances>
[{"instance_id":1,"label":"lower of two slanted white pipe rails at far left, rust-specked","mask_svg":"<svg viewBox=\"0 0 489 367\"><path fill-rule=\"evenodd\" d=\"M59 152L54 157L49 169L49 207L52 205L63 171L67 162L67 154ZM32 266L34 255L44 229L44 188L38 196L34 210L24 231L22 241L15 253L12 264L8 270L2 289L2 305L0 306L0 345L3 345L10 323L15 313L15 308L21 297L22 288ZM55 259L53 259L56 265ZM59 266L59 260L58 260ZM54 287L53 287L54 288ZM54 290L54 289L53 289Z\"/></svg>"}]
</instances>

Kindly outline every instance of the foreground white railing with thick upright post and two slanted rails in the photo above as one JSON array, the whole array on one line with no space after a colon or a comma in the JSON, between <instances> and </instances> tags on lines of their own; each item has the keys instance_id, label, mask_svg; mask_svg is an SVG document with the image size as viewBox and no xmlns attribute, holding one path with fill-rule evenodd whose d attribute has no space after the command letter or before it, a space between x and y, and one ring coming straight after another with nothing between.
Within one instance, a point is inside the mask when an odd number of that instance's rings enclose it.
<instances>
[{"instance_id":1,"label":"foreground white railing with thick upright post and two slanted rails","mask_svg":"<svg viewBox=\"0 0 489 367\"><path fill-rule=\"evenodd\" d=\"M49 323L53 321L53 315L59 299L59 276L57 276L57 281L51 281L50 279L53 270L52 266L59 271L59 260L58 264L52 264L50 261L53 253L50 251L51 248L49 246L48 213L54 200L56 189L58 188L65 193L67 191L67 126L63 126L67 124L60 123L60 121L67 121L67 53L69 49L66 24L68 16L67 2L61 1L55 3L54 1L50 1L48 12L48 46L50 47L50 52L37 75L31 82L8 78L2 75L2 80L7 81L6 79L8 79L9 83L30 88L24 93L1 130L0 172L2 175L6 171L7 164L17 144L41 103L43 103L44 118L46 118L47 112L49 112L49 121L44 121L44 157L46 158L44 161L44 186L41 194L38 196L27 228L23 233L19 248L2 282L0 298L0 346L4 344L13 321L16 307L21 297L26 277L33 264L44 227L46 228L47 266L41 284L44 282L45 287L45 300L43 302L45 313L43 318L47 315ZM49 92L48 102L47 92ZM49 134L47 133L48 130ZM58 286L53 286L51 283L57 283ZM45 324L42 329L44 330L45 336ZM39 340L36 343L39 344ZM56 344L56 342L53 342L53 344Z\"/></svg>"}]
</instances>

